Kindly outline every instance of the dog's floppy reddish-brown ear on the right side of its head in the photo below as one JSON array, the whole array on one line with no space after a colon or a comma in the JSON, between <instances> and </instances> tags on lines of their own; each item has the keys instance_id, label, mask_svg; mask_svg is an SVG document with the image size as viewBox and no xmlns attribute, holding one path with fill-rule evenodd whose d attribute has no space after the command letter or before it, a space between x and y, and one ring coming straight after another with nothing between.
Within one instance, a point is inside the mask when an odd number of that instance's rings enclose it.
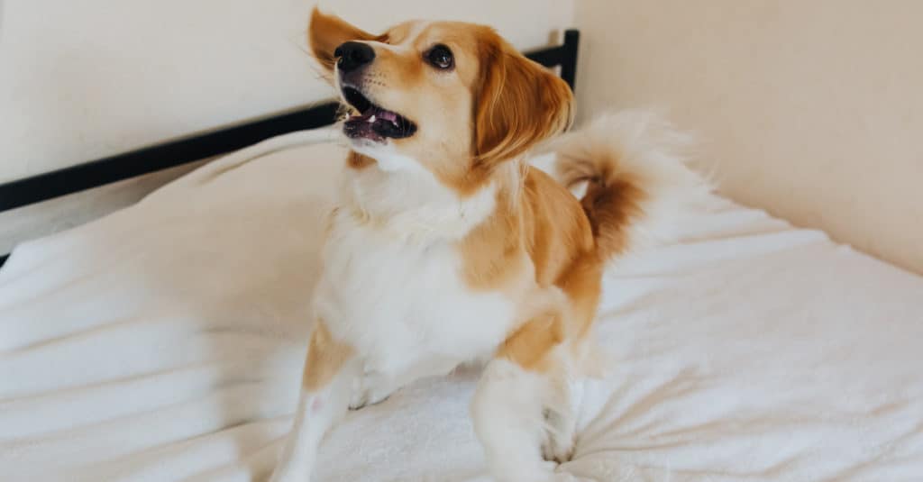
<instances>
[{"instance_id":1,"label":"dog's floppy reddish-brown ear on the right side of its head","mask_svg":"<svg viewBox=\"0 0 923 482\"><path fill-rule=\"evenodd\" d=\"M525 58L493 30L481 36L480 89L474 102L474 160L515 158L563 132L572 120L567 82Z\"/></svg>"}]
</instances>

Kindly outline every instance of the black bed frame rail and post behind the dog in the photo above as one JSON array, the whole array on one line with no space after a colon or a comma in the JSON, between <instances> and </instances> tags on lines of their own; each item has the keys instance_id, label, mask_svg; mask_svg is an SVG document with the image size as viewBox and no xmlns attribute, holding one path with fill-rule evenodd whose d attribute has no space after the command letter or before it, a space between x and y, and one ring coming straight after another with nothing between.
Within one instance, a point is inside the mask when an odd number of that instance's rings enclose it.
<instances>
[{"instance_id":1,"label":"black bed frame rail and post behind the dog","mask_svg":"<svg viewBox=\"0 0 923 482\"><path fill-rule=\"evenodd\" d=\"M560 45L526 55L543 66L560 66L561 78L573 90L579 42L578 30L565 30ZM0 212L193 163L288 132L329 126L336 120L337 108L337 102L323 102L18 179L0 185ZM0 266L7 256L0 256Z\"/></svg>"}]
</instances>

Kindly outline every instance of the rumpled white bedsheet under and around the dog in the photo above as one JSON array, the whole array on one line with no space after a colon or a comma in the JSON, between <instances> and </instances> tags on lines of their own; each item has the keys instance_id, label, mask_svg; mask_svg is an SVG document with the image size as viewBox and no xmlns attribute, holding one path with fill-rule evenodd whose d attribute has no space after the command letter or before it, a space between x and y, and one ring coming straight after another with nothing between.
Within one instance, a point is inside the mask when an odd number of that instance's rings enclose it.
<instances>
[{"instance_id":1,"label":"rumpled white bedsheet under and around the dog","mask_svg":"<svg viewBox=\"0 0 923 482\"><path fill-rule=\"evenodd\" d=\"M333 145L211 163L0 270L0 480L261 480L294 410ZM607 273L561 479L923 480L923 280L715 199ZM462 481L476 373L351 413L321 481Z\"/></svg>"}]
</instances>

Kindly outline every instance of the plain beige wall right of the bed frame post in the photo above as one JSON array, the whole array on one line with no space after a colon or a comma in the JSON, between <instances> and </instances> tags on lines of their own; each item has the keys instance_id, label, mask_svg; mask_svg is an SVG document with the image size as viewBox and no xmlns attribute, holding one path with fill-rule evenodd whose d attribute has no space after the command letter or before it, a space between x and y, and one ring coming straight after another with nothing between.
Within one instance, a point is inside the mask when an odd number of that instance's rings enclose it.
<instances>
[{"instance_id":1,"label":"plain beige wall right of the bed frame post","mask_svg":"<svg viewBox=\"0 0 923 482\"><path fill-rule=\"evenodd\" d=\"M581 117L665 107L731 198L923 272L923 2L575 8Z\"/></svg>"}]
</instances>

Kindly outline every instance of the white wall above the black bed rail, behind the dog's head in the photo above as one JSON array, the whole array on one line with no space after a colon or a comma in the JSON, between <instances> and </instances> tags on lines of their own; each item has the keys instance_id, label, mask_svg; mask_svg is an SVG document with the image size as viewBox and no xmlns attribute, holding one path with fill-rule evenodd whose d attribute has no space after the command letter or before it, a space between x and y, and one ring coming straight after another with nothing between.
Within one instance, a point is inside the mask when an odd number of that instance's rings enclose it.
<instances>
[{"instance_id":1,"label":"white wall above the black bed rail, behind the dog's head","mask_svg":"<svg viewBox=\"0 0 923 482\"><path fill-rule=\"evenodd\" d=\"M6 0L0 182L331 95L302 48L309 0ZM497 27L521 48L571 1L327 1L366 30L409 18Z\"/></svg>"}]
</instances>

